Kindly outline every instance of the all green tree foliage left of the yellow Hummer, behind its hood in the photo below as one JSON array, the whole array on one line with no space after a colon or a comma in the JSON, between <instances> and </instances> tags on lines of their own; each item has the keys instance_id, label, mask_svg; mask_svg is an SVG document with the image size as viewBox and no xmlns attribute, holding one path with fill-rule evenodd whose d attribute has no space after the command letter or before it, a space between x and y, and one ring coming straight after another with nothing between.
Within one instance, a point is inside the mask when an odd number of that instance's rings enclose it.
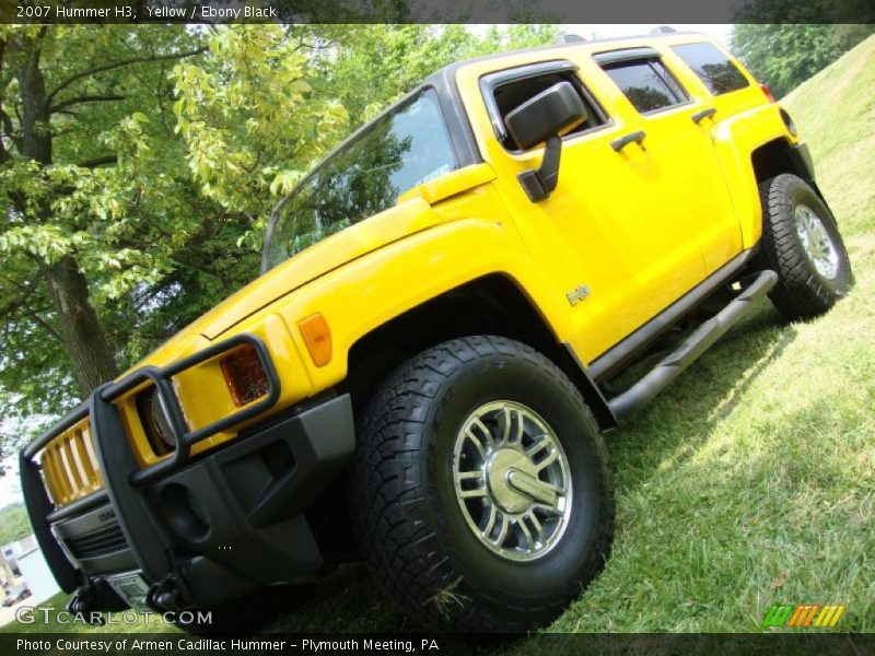
<instances>
[{"instance_id":1,"label":"all green tree foliage left of the yellow Hummer, behind its hood","mask_svg":"<svg viewBox=\"0 0 875 656\"><path fill-rule=\"evenodd\" d=\"M113 358L131 366L257 276L272 208L353 128L453 60L556 34L0 27L0 449L80 396L47 267L74 260ZM21 71L37 52L43 161L22 150Z\"/></svg>"}]
</instances>

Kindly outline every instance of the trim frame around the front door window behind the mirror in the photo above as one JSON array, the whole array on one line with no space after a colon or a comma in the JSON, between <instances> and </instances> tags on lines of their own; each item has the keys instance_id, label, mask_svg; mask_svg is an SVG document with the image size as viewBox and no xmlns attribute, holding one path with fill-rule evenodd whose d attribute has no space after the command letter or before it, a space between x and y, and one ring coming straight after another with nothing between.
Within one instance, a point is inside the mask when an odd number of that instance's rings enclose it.
<instances>
[{"instance_id":1,"label":"trim frame around the front door window behind the mirror","mask_svg":"<svg viewBox=\"0 0 875 656\"><path fill-rule=\"evenodd\" d=\"M483 97L483 103L486 104L487 114L489 115L489 122L492 124L492 131L495 134L495 138L501 143L501 147L509 153L514 155L520 155L526 151L522 149L510 149L504 145L505 139L509 137L506 129L504 128L504 121L501 120L501 113L499 112L498 104L495 103L495 95L494 91L495 87L508 84L509 82L516 82L520 80L527 80L529 78L538 78L540 75L546 75L550 73L565 73L571 72L574 73L575 82L578 83L578 91L581 92L584 99L590 104L590 106L595 109L598 114L598 118L602 121L597 126L593 126L592 128L587 128L581 132L572 132L570 134L565 134L562 137L562 141L571 141L576 139L578 137L583 137L587 134L592 134L593 132L597 132L598 130L604 130L609 128L614 125L614 118L605 110L605 107L598 99L593 95L586 84L580 77L580 67L568 59L551 59L549 61L539 61L537 63L526 63L523 66L515 66L513 68L503 69L500 71L492 71L489 73L483 74L480 78L480 94Z\"/></svg>"}]
</instances>

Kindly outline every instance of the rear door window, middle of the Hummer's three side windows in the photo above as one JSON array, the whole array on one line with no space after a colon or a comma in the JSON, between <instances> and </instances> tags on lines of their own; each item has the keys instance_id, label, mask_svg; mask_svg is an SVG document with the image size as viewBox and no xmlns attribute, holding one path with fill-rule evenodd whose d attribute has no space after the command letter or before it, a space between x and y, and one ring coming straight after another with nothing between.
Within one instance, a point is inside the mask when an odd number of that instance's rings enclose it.
<instances>
[{"instance_id":1,"label":"rear door window, middle of the Hummer's three side windows","mask_svg":"<svg viewBox=\"0 0 875 656\"><path fill-rule=\"evenodd\" d=\"M641 114L685 103L689 96L658 58L620 60L602 68Z\"/></svg>"}]
</instances>

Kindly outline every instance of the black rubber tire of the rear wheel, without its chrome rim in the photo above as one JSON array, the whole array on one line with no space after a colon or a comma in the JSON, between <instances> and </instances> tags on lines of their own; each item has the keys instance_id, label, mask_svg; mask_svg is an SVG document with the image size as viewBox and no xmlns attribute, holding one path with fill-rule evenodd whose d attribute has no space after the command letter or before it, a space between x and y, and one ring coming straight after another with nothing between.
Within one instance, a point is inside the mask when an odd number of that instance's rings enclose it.
<instances>
[{"instance_id":1,"label":"black rubber tire of the rear wheel, without its chrome rim","mask_svg":"<svg viewBox=\"0 0 875 656\"><path fill-rule=\"evenodd\" d=\"M815 190L795 175L781 174L762 183L759 189L762 243L757 263L779 276L769 297L791 320L826 313L853 284L851 261L832 213ZM832 277L818 271L796 230L794 213L801 206L816 214L835 248L837 266Z\"/></svg>"}]
</instances>

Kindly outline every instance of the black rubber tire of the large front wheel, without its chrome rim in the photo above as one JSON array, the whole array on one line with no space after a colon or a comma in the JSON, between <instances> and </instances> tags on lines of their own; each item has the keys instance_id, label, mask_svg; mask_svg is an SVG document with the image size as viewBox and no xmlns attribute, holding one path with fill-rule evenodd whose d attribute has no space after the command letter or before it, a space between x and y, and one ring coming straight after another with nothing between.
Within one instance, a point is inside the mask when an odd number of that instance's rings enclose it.
<instances>
[{"instance_id":1,"label":"black rubber tire of the large front wheel, without its chrome rim","mask_svg":"<svg viewBox=\"0 0 875 656\"><path fill-rule=\"evenodd\" d=\"M456 435L497 399L535 410L568 459L571 512L552 549L510 562L481 543L455 496ZM352 507L372 574L418 623L523 632L553 620L604 567L614 499L604 442L568 377L544 355L500 337L440 344L394 372L359 422Z\"/></svg>"}]
</instances>

